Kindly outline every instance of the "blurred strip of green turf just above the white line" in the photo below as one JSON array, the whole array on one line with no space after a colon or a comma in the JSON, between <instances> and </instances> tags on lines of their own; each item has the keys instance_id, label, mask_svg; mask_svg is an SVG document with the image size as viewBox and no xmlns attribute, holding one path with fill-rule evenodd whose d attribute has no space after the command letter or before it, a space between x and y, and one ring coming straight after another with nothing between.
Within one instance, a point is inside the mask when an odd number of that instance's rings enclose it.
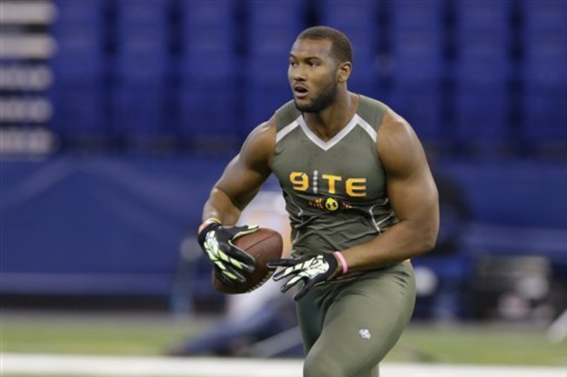
<instances>
[{"instance_id":1,"label":"blurred strip of green turf just above the white line","mask_svg":"<svg viewBox=\"0 0 567 377\"><path fill-rule=\"evenodd\" d=\"M1 352L159 355L210 328L216 318L167 315L1 313ZM567 341L545 328L412 324L386 361L567 366Z\"/></svg>"}]
</instances>

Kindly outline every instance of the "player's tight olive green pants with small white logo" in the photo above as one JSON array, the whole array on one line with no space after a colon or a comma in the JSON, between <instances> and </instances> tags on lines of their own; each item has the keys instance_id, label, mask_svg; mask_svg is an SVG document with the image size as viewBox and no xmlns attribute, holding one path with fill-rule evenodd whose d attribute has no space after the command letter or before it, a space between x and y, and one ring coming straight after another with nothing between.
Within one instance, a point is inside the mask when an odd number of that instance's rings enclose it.
<instances>
[{"instance_id":1,"label":"player's tight olive green pants with small white logo","mask_svg":"<svg viewBox=\"0 0 567 377\"><path fill-rule=\"evenodd\" d=\"M415 304L409 261L313 287L298 301L303 377L376 377Z\"/></svg>"}]
</instances>

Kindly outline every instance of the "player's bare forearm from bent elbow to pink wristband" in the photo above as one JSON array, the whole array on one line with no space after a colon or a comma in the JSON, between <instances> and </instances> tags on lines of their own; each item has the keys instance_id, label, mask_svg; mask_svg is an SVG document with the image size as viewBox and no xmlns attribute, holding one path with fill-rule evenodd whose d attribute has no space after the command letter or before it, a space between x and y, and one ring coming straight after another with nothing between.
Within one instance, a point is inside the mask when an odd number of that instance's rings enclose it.
<instances>
[{"instance_id":1,"label":"player's bare forearm from bent elbow to pink wristband","mask_svg":"<svg viewBox=\"0 0 567 377\"><path fill-rule=\"evenodd\" d=\"M437 240L437 221L400 221L368 243L342 250L349 272L393 265L432 250Z\"/></svg>"}]
</instances>

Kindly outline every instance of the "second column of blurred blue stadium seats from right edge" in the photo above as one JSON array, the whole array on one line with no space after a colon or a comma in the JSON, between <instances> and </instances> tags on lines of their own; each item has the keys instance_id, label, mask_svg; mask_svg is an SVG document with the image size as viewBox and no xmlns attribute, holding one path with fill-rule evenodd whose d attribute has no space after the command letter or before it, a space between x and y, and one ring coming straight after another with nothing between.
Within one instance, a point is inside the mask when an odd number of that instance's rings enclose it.
<instances>
[{"instance_id":1,"label":"second column of blurred blue stadium seats from right edge","mask_svg":"<svg viewBox=\"0 0 567 377\"><path fill-rule=\"evenodd\" d=\"M494 151L510 140L511 2L456 2L456 123L460 145Z\"/></svg>"}]
</instances>

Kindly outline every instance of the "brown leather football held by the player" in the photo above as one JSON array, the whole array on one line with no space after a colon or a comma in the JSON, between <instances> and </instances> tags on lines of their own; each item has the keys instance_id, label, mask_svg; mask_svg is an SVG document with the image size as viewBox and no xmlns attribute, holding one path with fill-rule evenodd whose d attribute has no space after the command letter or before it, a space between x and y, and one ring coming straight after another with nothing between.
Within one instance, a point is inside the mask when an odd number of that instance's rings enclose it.
<instances>
[{"instance_id":1,"label":"brown leather football held by the player","mask_svg":"<svg viewBox=\"0 0 567 377\"><path fill-rule=\"evenodd\" d=\"M235 245L252 255L255 260L256 269L252 274L243 272L246 282L242 284L235 283L232 286L224 284L212 272L213 287L215 291L224 294L244 294L254 291L262 286L274 274L275 270L269 268L266 263L269 260L279 259L283 250L283 241L280 233L270 228L259 228L254 233L239 237L234 241Z\"/></svg>"}]
</instances>

